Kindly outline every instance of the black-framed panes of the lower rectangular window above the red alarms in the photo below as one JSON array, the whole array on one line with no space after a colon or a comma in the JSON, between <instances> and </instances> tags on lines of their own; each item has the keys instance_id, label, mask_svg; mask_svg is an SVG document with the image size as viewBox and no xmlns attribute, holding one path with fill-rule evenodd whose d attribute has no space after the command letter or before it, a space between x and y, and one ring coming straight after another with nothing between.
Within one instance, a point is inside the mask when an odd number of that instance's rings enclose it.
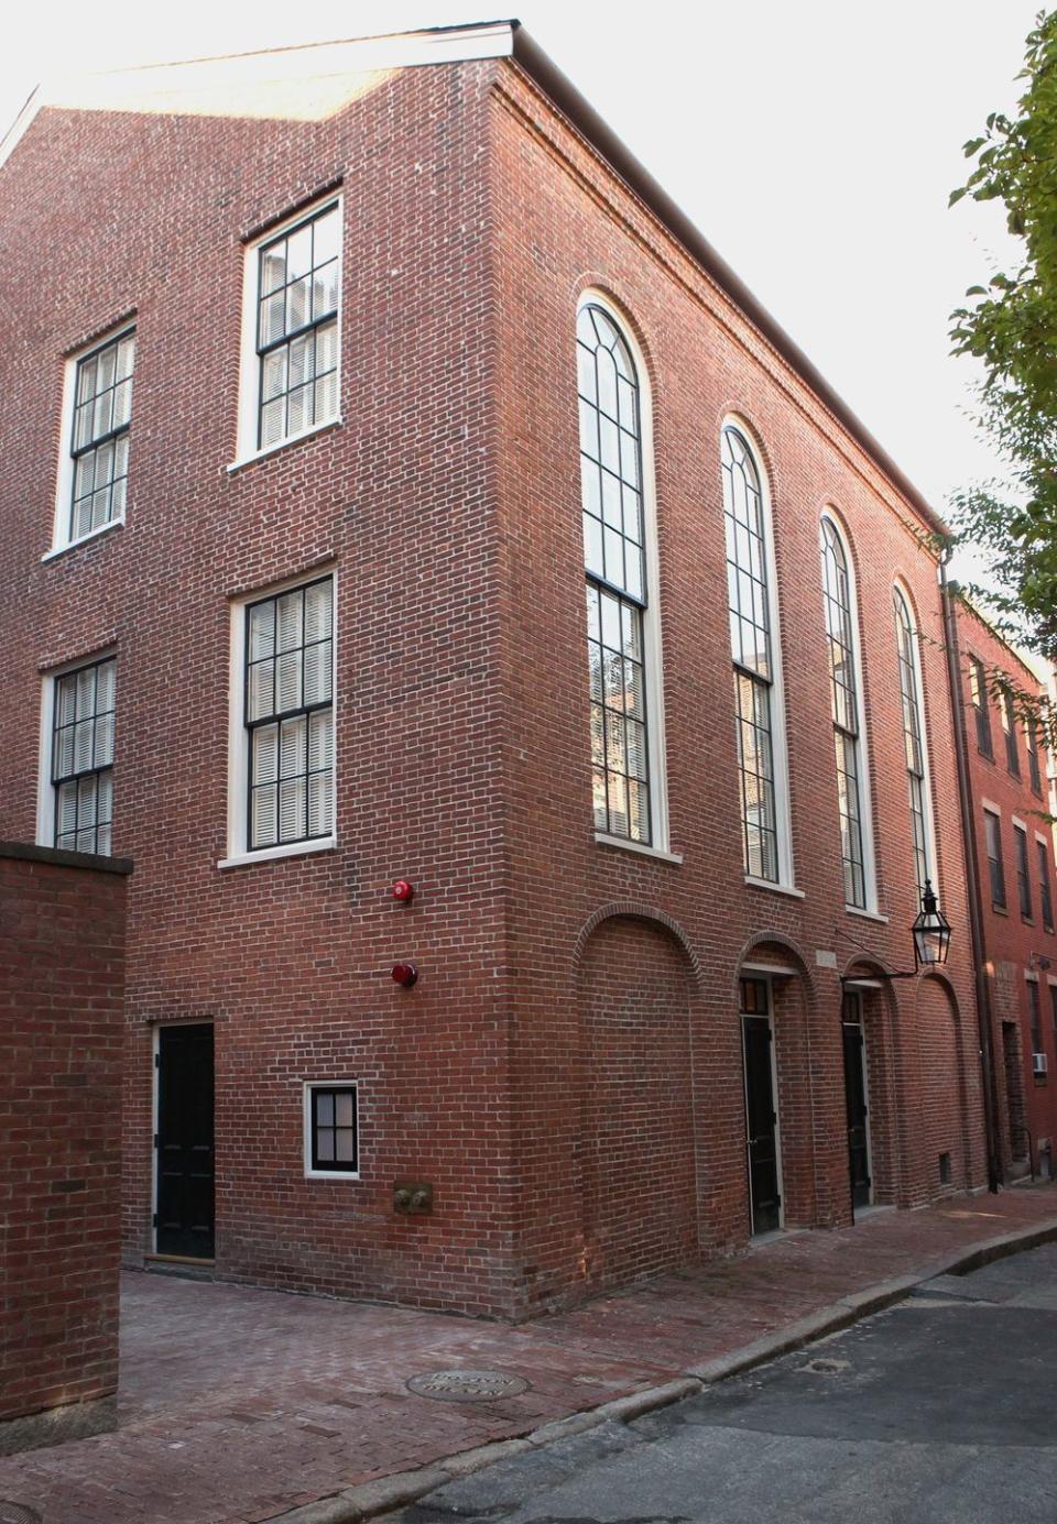
<instances>
[{"instance_id":1,"label":"black-framed panes of the lower rectangular window above the red alarms","mask_svg":"<svg viewBox=\"0 0 1057 1524\"><path fill-rule=\"evenodd\" d=\"M246 844L334 829L334 579L246 605Z\"/></svg>"}]
</instances>

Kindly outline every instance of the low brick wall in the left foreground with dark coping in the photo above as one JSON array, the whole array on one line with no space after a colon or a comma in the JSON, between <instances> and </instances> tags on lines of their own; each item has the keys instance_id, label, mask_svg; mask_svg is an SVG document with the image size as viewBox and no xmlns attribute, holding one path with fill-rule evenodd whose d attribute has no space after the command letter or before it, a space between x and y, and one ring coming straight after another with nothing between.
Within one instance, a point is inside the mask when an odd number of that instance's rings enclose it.
<instances>
[{"instance_id":1,"label":"low brick wall in the left foreground with dark coping","mask_svg":"<svg viewBox=\"0 0 1057 1524\"><path fill-rule=\"evenodd\" d=\"M0 841L0 1454L114 1423L130 869Z\"/></svg>"}]
</instances>

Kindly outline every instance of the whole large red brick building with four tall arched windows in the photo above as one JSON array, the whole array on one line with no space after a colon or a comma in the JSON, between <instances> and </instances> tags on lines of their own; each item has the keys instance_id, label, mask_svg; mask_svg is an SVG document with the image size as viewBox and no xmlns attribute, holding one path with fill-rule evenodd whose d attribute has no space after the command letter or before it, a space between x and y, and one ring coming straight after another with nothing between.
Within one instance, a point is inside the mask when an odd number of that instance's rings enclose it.
<instances>
[{"instance_id":1,"label":"whole large red brick building with four tall arched windows","mask_svg":"<svg viewBox=\"0 0 1057 1524\"><path fill-rule=\"evenodd\" d=\"M941 526L531 40L8 148L0 828L137 863L128 1263L522 1317L979 1186Z\"/></svg>"}]
</instances>

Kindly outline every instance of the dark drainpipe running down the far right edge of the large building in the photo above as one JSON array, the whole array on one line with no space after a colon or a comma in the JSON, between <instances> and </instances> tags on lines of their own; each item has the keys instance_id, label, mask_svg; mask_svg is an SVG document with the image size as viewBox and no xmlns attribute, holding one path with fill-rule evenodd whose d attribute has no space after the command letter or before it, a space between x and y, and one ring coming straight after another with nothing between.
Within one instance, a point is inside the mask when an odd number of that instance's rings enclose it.
<instances>
[{"instance_id":1,"label":"dark drainpipe running down the far right edge of the large building","mask_svg":"<svg viewBox=\"0 0 1057 1524\"><path fill-rule=\"evenodd\" d=\"M984 911L979 896L979 852L976 849L976 812L969 773L969 744L965 741L965 707L961 692L961 652L958 649L958 616L955 596L958 584L947 581L947 562L953 546L947 546L940 558L940 593L943 597L943 629L947 651L947 678L950 681L950 713L955 725L955 760L958 764L958 802L961 805L961 834L965 843L965 888L969 893L969 936L976 975L976 1020L979 1026L979 1067L984 1087L984 1132L987 1137L987 1189L996 1193L1002 1181L1002 1160L998 1146L998 1108L994 1103L994 1045L991 1039L991 981L987 977L987 943L984 937Z\"/></svg>"}]
</instances>

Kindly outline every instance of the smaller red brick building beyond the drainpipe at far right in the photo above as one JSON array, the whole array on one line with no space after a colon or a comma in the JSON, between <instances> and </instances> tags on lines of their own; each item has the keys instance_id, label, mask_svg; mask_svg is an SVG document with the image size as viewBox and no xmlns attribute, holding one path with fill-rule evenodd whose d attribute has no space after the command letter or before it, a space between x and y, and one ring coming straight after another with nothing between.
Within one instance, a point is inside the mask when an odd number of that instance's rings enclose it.
<instances>
[{"instance_id":1,"label":"smaller red brick building beyond the drainpipe at far right","mask_svg":"<svg viewBox=\"0 0 1057 1524\"><path fill-rule=\"evenodd\" d=\"M972 608L959 648L1005 1178L1057 1146L1057 936L1049 756L1031 704L1045 681Z\"/></svg>"}]
</instances>

